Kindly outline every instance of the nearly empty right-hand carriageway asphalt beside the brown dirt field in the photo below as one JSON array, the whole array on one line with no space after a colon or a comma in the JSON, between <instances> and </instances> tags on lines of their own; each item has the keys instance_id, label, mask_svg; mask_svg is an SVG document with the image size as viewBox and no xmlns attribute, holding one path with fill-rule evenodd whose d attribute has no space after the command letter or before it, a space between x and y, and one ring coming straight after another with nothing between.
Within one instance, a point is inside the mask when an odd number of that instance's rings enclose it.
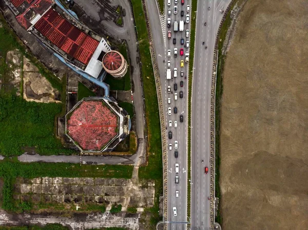
<instances>
[{"instance_id":1,"label":"nearly empty right-hand carriageway asphalt beside the brown dirt field","mask_svg":"<svg viewBox=\"0 0 308 230\"><path fill-rule=\"evenodd\" d=\"M191 116L191 229L210 229L210 94L219 24L230 0L198 1ZM208 9L210 7L210 9ZM206 26L204 23L206 22ZM204 41L204 45L203 44ZM207 49L205 47L207 46ZM202 162L203 161L203 162ZM208 174L205 174L205 167Z\"/></svg>"}]
</instances>

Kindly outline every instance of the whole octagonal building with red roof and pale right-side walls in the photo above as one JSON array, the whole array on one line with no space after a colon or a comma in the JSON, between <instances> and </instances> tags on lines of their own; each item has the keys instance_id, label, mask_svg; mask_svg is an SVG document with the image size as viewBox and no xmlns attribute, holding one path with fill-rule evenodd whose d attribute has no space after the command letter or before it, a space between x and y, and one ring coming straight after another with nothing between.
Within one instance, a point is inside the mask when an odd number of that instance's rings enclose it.
<instances>
[{"instance_id":1,"label":"whole octagonal building with red roof and pale right-side walls","mask_svg":"<svg viewBox=\"0 0 308 230\"><path fill-rule=\"evenodd\" d=\"M113 98L83 98L65 116L65 133L83 153L112 151L128 134L128 113Z\"/></svg>"}]
</instances>

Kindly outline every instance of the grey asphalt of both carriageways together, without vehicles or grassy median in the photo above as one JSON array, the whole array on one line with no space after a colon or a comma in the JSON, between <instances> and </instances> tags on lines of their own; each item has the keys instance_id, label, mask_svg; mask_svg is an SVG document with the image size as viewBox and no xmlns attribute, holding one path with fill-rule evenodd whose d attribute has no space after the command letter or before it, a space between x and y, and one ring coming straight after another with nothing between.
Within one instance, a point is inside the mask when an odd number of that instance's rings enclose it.
<instances>
[{"instance_id":1,"label":"grey asphalt of both carriageways together, without vehicles or grassy median","mask_svg":"<svg viewBox=\"0 0 308 230\"><path fill-rule=\"evenodd\" d=\"M172 144L172 150L167 150L168 157L168 178L167 178L167 219L164 221L190 221L191 229L210 229L210 94L211 94L211 76L213 74L213 55L215 39L217 36L219 24L223 14L231 0L206 0L198 1L197 12L188 12L191 17L196 16L196 43L195 59L192 81L192 113L191 127L187 126L187 79L180 76L181 71L188 76L188 66L185 63L184 68L180 67L180 49L189 52L180 44L180 39L186 38L185 30L190 32L190 22L184 25L183 32L174 32L174 22L186 19L187 5L191 6L191 1L181 0L175 4L175 0L165 0L165 15L159 15L159 10L155 1L146 0L153 45L156 51L156 59L159 66L161 77L161 90L164 103L165 123L168 126L169 120L172 121L172 127L167 127L168 132L172 132L172 139L167 139L167 148ZM178 7L178 13L174 14L174 6ZM210 7L210 9L208 9ZM168 15L168 9L171 15ZM222 9L222 10L221 10ZM181 16L181 10L184 10L184 16ZM171 19L171 27L167 27L167 18ZM158 23L160 22L160 23ZM206 26L204 23L206 22ZM168 31L171 31L171 38L168 39ZM176 44L172 43L176 38ZM204 42L204 45L203 45ZM205 47L207 47L205 49ZM178 49L178 57L174 57L174 48ZM171 56L167 56L167 50L171 50ZM171 66L167 67L167 61L170 60ZM164 62L165 61L165 62ZM178 69L178 77L173 77L174 68ZM173 80L166 79L166 70L171 69ZM184 87L180 87L180 81L184 81ZM174 83L177 83L178 90L174 90ZM170 86L172 93L167 93L167 87ZM179 92L183 91L183 98L179 98ZM175 100L174 93L178 93L178 100ZM170 104L168 103L170 98ZM174 114L174 107L178 108L178 113ZM172 109L172 114L168 115L168 108ZM180 114L184 115L184 122L180 122ZM178 121L178 127L174 127L174 121ZM191 178L187 178L187 129L191 129ZM163 132L162 131L162 132ZM174 141L177 140L179 147L177 149L179 156L175 158ZM203 162L202 162L203 161ZM175 173L175 164L179 163L179 173ZM208 167L208 174L205 174L205 167ZM179 184L175 183L175 176L179 176ZM187 219L187 182L191 183L191 218ZM176 197L176 191L179 191L179 197ZM174 216L172 207L177 207L177 216ZM169 223L168 229L186 229L186 224Z\"/></svg>"}]
</instances>

